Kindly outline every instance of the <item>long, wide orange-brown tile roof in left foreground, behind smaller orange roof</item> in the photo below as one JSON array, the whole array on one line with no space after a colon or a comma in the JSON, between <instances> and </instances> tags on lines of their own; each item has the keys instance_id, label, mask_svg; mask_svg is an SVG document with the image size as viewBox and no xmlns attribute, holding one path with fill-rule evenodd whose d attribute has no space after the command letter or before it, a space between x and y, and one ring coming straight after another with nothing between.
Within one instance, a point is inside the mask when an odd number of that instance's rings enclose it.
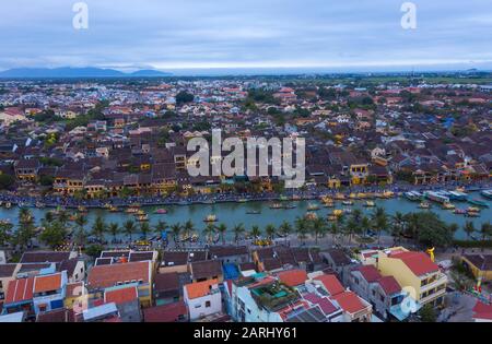
<instances>
[{"instance_id":1,"label":"long, wide orange-brown tile roof in left foreground, behind smaller orange roof","mask_svg":"<svg viewBox=\"0 0 492 344\"><path fill-rule=\"evenodd\" d=\"M107 288L115 286L117 282L143 280L150 283L151 262L129 262L112 265L96 265L91 269L87 276L89 288Z\"/></svg>"}]
</instances>

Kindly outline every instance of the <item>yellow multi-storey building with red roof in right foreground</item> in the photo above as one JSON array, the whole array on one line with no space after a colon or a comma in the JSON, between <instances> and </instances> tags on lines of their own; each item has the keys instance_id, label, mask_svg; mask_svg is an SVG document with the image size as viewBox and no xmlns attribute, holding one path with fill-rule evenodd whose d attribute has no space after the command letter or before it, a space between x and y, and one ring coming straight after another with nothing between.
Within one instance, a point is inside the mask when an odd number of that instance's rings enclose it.
<instances>
[{"instance_id":1,"label":"yellow multi-storey building with red roof in right foreground","mask_svg":"<svg viewBox=\"0 0 492 344\"><path fill-rule=\"evenodd\" d=\"M382 275L394 276L420 306L443 303L447 276L424 252L402 247L379 251L376 268Z\"/></svg>"}]
</instances>

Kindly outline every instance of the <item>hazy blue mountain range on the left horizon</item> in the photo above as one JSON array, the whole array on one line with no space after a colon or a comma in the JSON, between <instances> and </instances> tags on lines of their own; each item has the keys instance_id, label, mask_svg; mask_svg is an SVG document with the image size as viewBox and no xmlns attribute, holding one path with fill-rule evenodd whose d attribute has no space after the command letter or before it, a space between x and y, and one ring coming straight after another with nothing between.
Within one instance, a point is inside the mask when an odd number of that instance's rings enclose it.
<instances>
[{"instance_id":1,"label":"hazy blue mountain range on the left horizon","mask_svg":"<svg viewBox=\"0 0 492 344\"><path fill-rule=\"evenodd\" d=\"M156 70L140 70L132 73L124 73L114 69L101 68L15 68L0 72L0 78L24 78L24 79L44 79L44 78L152 78L169 76Z\"/></svg>"}]
</instances>

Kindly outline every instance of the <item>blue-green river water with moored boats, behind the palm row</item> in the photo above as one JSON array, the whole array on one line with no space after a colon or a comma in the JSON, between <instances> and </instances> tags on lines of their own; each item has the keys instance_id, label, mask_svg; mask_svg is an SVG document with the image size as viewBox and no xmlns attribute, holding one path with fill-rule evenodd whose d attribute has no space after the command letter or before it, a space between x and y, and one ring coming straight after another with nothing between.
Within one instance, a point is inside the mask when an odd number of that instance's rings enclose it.
<instances>
[{"instance_id":1,"label":"blue-green river water with moored boats, behind the palm row","mask_svg":"<svg viewBox=\"0 0 492 344\"><path fill-rule=\"evenodd\" d=\"M478 192L469 193L470 198L476 198L480 200L484 200L480 197ZM401 213L409 213L415 211L422 211L418 207L419 202L411 202L405 198L395 198L388 200L377 199L374 200L376 205L383 206L389 215L395 214L395 212L399 211ZM215 203L215 204L194 204L194 205L171 205L165 206L167 210L167 214L155 214L154 211L161 206L148 206L143 207L148 214L150 220L150 225L155 225L159 221L165 221L168 225L173 225L175 223L184 223L188 220L191 220L195 224L195 228L198 232L201 232L206 227L206 223L203 220L209 214L214 214L218 217L216 224L225 224L229 229L231 229L234 225L243 223L246 230L249 230L251 226L258 225L261 229L263 229L267 225L272 224L274 226L279 226L282 222L286 221L291 224L294 223L297 216L304 216L307 212L307 206L309 203L318 203L321 205L320 201L294 201L291 202L296 205L295 209L290 210L273 210L270 209L270 202L247 202L247 203ZM471 204L467 202L455 202L456 207L466 209ZM490 202L489 202L490 204ZM354 201L354 205L344 206L341 202L336 201L335 209L361 209L364 214L371 214L374 211L372 207L365 207L364 201ZM318 216L326 216L331 213L333 209L320 207L317 211ZM35 216L36 223L38 224L40 220L44 217L45 213L48 209L32 209L32 212ZM71 210L73 212L73 210ZM260 214L247 214L248 211L259 211ZM453 211L442 210L441 206L436 203L432 203L432 210L436 212L440 217L446 223L456 223L459 226L459 230L456 233L457 239L465 239L466 235L462 230L462 225L466 221L472 221L476 225L476 228L480 228L480 225L485 222L490 222L492 218L492 210L490 207L482 209L480 217L465 217L464 215L454 214ZM0 220L8 220L13 224L16 224L17 221L19 207L12 209L0 209ZM86 228L91 228L91 225L94 218L97 215L103 215L106 223L116 222L118 224L122 224L127 220L132 220L133 216L130 214L126 214L124 212L120 213L110 213L101 209L92 209L87 214L87 225Z\"/></svg>"}]
</instances>

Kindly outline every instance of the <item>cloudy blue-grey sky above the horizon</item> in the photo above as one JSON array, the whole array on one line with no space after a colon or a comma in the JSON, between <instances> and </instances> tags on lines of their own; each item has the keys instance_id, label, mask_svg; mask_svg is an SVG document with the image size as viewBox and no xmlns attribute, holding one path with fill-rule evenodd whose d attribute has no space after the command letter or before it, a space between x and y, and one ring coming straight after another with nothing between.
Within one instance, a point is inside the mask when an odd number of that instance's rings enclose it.
<instances>
[{"instance_id":1,"label":"cloudy blue-grey sky above the horizon","mask_svg":"<svg viewBox=\"0 0 492 344\"><path fill-rule=\"evenodd\" d=\"M0 70L492 70L491 0L0 1Z\"/></svg>"}]
</instances>

